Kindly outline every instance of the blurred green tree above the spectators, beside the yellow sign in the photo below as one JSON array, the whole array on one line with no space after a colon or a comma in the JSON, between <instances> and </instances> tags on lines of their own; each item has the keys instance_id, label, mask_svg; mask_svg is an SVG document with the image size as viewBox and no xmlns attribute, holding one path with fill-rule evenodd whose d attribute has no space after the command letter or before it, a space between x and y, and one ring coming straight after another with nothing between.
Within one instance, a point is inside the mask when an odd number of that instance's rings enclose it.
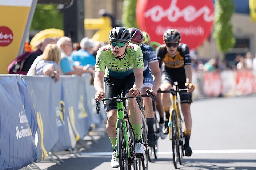
<instances>
[{"instance_id":1,"label":"blurred green tree above the spectators, beside the yellow sign","mask_svg":"<svg viewBox=\"0 0 256 170\"><path fill-rule=\"evenodd\" d=\"M30 30L57 28L63 30L63 13L57 10L57 5L36 5Z\"/></svg>"}]
</instances>

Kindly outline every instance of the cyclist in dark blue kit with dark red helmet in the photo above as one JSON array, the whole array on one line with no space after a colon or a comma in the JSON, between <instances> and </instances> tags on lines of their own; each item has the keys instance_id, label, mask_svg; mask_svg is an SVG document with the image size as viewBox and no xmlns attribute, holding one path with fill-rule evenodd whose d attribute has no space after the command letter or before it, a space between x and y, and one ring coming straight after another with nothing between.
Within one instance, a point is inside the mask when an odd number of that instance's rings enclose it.
<instances>
[{"instance_id":1,"label":"cyclist in dark blue kit with dark red helmet","mask_svg":"<svg viewBox=\"0 0 256 170\"><path fill-rule=\"evenodd\" d=\"M156 96L157 90L161 84L161 72L157 62L157 58L153 48L147 44L142 44L143 34L137 28L128 28L131 33L131 43L140 46L143 54L143 86L141 88L142 94L147 94L146 90L149 89L153 95ZM154 79L153 76L154 75ZM154 111L152 107L152 99L150 97L143 98L145 105L144 115L147 118L148 125L148 145L155 146L157 143L156 135L154 133Z\"/></svg>"}]
</instances>

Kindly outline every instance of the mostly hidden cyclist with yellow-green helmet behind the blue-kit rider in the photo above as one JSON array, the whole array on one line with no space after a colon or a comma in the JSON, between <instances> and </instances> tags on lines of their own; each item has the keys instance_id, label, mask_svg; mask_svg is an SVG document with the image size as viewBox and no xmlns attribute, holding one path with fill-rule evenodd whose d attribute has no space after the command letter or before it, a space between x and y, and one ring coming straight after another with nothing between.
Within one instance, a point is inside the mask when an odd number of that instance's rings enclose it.
<instances>
[{"instance_id":1,"label":"mostly hidden cyclist with yellow-green helmet behind the blue-kit rider","mask_svg":"<svg viewBox=\"0 0 256 170\"><path fill-rule=\"evenodd\" d=\"M161 44L158 42L150 41L150 36L145 31L142 32L142 35L144 38L142 43L150 45L153 48L153 50L156 52L156 48L159 47ZM162 129L164 127L164 111L163 111L163 105L161 102L161 93L157 93L156 95L156 109L159 112L159 117L160 117L159 126L160 126L160 129ZM167 135L164 134L163 131L160 131L160 137L161 139L165 139Z\"/></svg>"}]
</instances>

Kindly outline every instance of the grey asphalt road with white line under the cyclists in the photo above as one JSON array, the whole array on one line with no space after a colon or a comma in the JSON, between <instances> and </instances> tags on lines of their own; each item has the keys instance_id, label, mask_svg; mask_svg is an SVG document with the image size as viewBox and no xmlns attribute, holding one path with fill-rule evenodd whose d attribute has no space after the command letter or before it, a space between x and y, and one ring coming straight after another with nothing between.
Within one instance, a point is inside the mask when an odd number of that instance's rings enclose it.
<instances>
[{"instance_id":1,"label":"grey asphalt road with white line under the cyclists","mask_svg":"<svg viewBox=\"0 0 256 170\"><path fill-rule=\"evenodd\" d=\"M181 170L256 170L256 95L212 98L191 105L191 157L184 157ZM65 163L38 163L49 170L108 170L111 143L107 134L95 136L98 143L82 152L79 158L61 155ZM175 169L171 141L159 139L159 156L148 170Z\"/></svg>"}]
</instances>

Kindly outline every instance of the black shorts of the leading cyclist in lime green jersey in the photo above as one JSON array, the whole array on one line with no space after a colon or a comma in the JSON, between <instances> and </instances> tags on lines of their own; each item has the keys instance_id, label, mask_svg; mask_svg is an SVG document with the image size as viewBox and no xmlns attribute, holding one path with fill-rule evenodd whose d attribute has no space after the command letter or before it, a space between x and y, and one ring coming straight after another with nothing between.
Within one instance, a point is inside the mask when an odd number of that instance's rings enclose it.
<instances>
[{"instance_id":1,"label":"black shorts of the leading cyclist in lime green jersey","mask_svg":"<svg viewBox=\"0 0 256 170\"><path fill-rule=\"evenodd\" d=\"M127 93L127 91L133 88L134 80L133 72L122 79L111 76L104 77L106 98L116 97L118 94L121 94L121 92ZM106 112L117 109L116 102L113 100L103 101L103 104Z\"/></svg>"}]
</instances>

